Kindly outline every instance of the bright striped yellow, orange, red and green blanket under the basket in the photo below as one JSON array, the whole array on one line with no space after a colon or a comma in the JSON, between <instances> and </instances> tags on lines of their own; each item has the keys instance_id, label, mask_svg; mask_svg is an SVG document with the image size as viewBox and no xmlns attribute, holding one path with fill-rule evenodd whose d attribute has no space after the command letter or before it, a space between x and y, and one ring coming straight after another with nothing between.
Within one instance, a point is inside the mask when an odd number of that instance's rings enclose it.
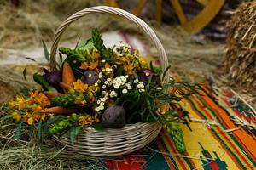
<instances>
[{"instance_id":1,"label":"bright striped yellow, orange, red and green blanket under the basket","mask_svg":"<svg viewBox=\"0 0 256 170\"><path fill-rule=\"evenodd\" d=\"M138 153L107 160L108 169L255 169L255 115L230 91L211 94L201 86L201 96L181 103L189 124L183 125L187 151L181 155L172 139L161 131L153 144Z\"/></svg>"}]
</instances>

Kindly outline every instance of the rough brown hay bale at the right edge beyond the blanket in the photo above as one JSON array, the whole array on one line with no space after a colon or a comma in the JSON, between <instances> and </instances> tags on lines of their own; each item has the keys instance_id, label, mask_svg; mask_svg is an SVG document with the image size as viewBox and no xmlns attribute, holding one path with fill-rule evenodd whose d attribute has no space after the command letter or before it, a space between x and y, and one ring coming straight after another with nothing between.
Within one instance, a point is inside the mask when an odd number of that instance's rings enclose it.
<instances>
[{"instance_id":1,"label":"rough brown hay bale at the right edge beyond the blanket","mask_svg":"<svg viewBox=\"0 0 256 170\"><path fill-rule=\"evenodd\" d=\"M256 1L241 3L227 23L225 71L230 82L256 90Z\"/></svg>"}]
</instances>

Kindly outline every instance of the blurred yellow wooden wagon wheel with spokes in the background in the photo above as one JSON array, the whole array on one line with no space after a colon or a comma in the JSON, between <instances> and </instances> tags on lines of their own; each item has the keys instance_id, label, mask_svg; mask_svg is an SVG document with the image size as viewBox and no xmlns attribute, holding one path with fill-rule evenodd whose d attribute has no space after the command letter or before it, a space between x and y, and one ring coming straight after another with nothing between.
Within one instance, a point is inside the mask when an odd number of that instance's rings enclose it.
<instances>
[{"instance_id":1,"label":"blurred yellow wooden wagon wheel with spokes in the background","mask_svg":"<svg viewBox=\"0 0 256 170\"><path fill-rule=\"evenodd\" d=\"M172 7L177 14L177 18L181 23L183 30L189 32L189 34L195 34L200 31L218 14L219 10L224 5L225 0L196 0L201 3L205 8L201 10L192 20L188 20L186 14L183 11L179 0L170 0ZM140 0L132 9L132 14L139 15L142 13L143 7L147 3L147 0ZM105 4L119 8L119 3L116 0L105 0ZM161 23L161 4L162 0L155 0L155 20L157 26Z\"/></svg>"}]
</instances>

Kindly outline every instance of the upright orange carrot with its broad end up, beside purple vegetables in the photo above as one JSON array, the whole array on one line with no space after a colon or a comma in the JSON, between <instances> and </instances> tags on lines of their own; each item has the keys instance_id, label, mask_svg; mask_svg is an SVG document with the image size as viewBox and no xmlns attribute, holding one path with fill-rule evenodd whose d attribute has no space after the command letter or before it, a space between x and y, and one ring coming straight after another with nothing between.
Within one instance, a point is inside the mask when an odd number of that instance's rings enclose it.
<instances>
[{"instance_id":1,"label":"upright orange carrot with its broad end up, beside purple vegetables","mask_svg":"<svg viewBox=\"0 0 256 170\"><path fill-rule=\"evenodd\" d=\"M67 62L64 62L62 66L62 82L71 87L73 87L73 82L76 82L72 68Z\"/></svg>"}]
</instances>

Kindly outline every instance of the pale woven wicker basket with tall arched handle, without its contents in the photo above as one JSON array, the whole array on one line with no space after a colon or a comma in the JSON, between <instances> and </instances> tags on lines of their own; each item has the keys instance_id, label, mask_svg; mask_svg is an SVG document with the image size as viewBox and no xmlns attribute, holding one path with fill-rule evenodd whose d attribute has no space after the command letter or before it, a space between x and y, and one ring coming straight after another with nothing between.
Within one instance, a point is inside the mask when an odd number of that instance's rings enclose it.
<instances>
[{"instance_id":1,"label":"pale woven wicker basket with tall arched handle, without its contents","mask_svg":"<svg viewBox=\"0 0 256 170\"><path fill-rule=\"evenodd\" d=\"M166 58L165 49L160 43L158 37L156 37L154 31L143 20L119 8L98 6L85 8L73 14L57 29L50 53L49 65L51 70L55 70L55 54L62 33L66 30L67 26L73 23L73 21L78 20L85 14L91 13L117 14L131 22L134 22L139 28L143 29L148 37L150 37L151 41L154 42L154 45L160 55L161 67L163 70L167 68L169 64ZM168 77L169 75L165 77L165 82ZM90 156L120 156L143 148L157 137L158 133L160 133L160 129L161 126L159 122L138 122L135 124L127 124L125 127L120 129L108 128L104 131L96 131L92 127L84 127L83 132L73 144L70 142L69 135L64 135L60 139L55 139L61 144L67 144L68 148L79 154Z\"/></svg>"}]
</instances>

